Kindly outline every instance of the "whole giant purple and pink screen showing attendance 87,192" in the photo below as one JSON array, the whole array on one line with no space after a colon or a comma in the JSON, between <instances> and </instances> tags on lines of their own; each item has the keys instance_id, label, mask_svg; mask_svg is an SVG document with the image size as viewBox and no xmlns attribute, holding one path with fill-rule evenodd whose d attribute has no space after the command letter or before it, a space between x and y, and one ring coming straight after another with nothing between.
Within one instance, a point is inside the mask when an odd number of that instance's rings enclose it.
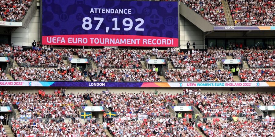
<instances>
[{"instance_id":1,"label":"whole giant purple and pink screen showing attendance 87,192","mask_svg":"<svg viewBox=\"0 0 275 137\"><path fill-rule=\"evenodd\" d=\"M42 1L42 44L178 47L178 29L178 2Z\"/></svg>"}]
</instances>

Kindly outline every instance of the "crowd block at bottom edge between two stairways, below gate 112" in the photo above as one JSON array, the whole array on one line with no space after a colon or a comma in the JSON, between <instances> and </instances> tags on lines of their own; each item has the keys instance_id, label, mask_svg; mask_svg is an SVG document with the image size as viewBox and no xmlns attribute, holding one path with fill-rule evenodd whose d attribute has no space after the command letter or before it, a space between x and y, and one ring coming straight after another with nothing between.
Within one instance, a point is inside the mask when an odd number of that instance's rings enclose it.
<instances>
[{"instance_id":1,"label":"crowd block at bottom edge between two stairways, below gate 112","mask_svg":"<svg viewBox=\"0 0 275 137\"><path fill-rule=\"evenodd\" d=\"M146 119L144 121L116 121L108 125L114 136L123 137L202 137L193 125L176 118Z\"/></svg>"}]
</instances>

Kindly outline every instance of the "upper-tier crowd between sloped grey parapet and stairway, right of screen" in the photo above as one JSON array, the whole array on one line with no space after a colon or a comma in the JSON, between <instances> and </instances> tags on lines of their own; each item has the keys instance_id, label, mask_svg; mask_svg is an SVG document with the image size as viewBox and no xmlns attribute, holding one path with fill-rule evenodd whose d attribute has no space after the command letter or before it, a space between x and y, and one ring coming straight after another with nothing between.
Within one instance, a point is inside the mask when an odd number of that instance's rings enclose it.
<instances>
[{"instance_id":1,"label":"upper-tier crowd between sloped grey parapet and stairway, right of screen","mask_svg":"<svg viewBox=\"0 0 275 137\"><path fill-rule=\"evenodd\" d=\"M181 0L190 9L215 26L226 26L221 0Z\"/></svg>"}]
</instances>

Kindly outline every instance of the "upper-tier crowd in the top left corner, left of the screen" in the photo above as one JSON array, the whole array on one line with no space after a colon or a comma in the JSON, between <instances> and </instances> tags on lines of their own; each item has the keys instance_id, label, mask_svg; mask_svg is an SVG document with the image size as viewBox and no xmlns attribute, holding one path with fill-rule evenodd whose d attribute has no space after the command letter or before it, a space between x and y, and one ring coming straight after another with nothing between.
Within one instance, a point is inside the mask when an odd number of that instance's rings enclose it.
<instances>
[{"instance_id":1,"label":"upper-tier crowd in the top left corner, left of the screen","mask_svg":"<svg viewBox=\"0 0 275 137\"><path fill-rule=\"evenodd\" d=\"M33 0L1 0L0 14L3 21L22 21Z\"/></svg>"}]
</instances>

